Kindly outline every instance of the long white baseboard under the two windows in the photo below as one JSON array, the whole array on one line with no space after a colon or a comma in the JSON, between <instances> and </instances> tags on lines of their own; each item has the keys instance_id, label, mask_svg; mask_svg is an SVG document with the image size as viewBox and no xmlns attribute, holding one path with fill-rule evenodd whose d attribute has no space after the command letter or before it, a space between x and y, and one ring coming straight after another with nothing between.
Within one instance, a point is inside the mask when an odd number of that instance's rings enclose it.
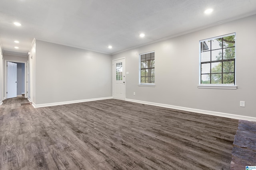
<instances>
[{"instance_id":1,"label":"long white baseboard under the two windows","mask_svg":"<svg viewBox=\"0 0 256 170\"><path fill-rule=\"evenodd\" d=\"M256 117L250 117L250 116L234 115L234 114L230 114L230 113L222 113L222 112L217 112L217 111L208 111L208 110L201 110L201 109L192 109L192 108L188 108L188 107L172 106L172 105L168 105L168 104L144 102L144 101L132 100L132 99L126 99L126 101L140 103L140 104L148 104L148 105L152 105L152 106L166 107L166 108L170 108L170 109L192 111L192 112L202 113L202 114L207 114L207 115L228 117L228 118L232 118L232 119L242 119L242 120L248 120L248 121L256 121Z\"/></svg>"}]
</instances>

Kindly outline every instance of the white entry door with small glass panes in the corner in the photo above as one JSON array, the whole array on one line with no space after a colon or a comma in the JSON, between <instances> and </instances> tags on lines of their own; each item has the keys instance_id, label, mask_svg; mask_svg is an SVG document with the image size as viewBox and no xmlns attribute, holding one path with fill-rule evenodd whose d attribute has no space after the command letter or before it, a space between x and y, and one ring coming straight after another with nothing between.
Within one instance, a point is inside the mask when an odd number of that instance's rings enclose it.
<instances>
[{"instance_id":1,"label":"white entry door with small glass panes in the corner","mask_svg":"<svg viewBox=\"0 0 256 170\"><path fill-rule=\"evenodd\" d=\"M125 59L114 60L114 98L125 100Z\"/></svg>"}]
</instances>

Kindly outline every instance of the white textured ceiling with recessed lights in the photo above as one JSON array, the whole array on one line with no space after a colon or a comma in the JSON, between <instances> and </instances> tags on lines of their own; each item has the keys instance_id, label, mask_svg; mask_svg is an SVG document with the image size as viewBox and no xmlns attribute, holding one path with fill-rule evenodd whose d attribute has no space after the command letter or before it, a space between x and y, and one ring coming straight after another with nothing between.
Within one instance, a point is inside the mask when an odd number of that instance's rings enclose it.
<instances>
[{"instance_id":1,"label":"white textured ceiling with recessed lights","mask_svg":"<svg viewBox=\"0 0 256 170\"><path fill-rule=\"evenodd\" d=\"M253 14L256 0L0 0L0 41L6 53L35 38L113 54Z\"/></svg>"}]
</instances>

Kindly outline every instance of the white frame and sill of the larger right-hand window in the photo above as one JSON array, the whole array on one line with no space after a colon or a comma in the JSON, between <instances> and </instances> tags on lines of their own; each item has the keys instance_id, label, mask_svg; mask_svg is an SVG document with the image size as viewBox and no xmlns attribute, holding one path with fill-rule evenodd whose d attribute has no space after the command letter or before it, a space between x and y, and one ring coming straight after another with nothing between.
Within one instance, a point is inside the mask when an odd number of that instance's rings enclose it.
<instances>
[{"instance_id":1,"label":"white frame and sill of the larger right-hand window","mask_svg":"<svg viewBox=\"0 0 256 170\"><path fill-rule=\"evenodd\" d=\"M204 41L209 41L212 39L218 39L218 38L222 38L222 37L228 37L228 36L232 36L235 35L236 33L230 33L230 34L226 34L226 35L221 35L218 37L213 37L213 38L209 38L209 39L203 39L199 41L199 85L198 88L214 88L214 89L237 89L237 85L236 85L236 42L235 42L235 83L234 84L201 84L201 42Z\"/></svg>"}]
</instances>

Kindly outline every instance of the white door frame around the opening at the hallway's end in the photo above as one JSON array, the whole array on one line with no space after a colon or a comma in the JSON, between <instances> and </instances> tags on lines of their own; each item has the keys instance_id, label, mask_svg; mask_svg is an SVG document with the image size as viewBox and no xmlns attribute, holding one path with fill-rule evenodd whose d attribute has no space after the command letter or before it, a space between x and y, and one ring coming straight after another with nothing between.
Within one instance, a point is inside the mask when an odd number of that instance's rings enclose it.
<instances>
[{"instance_id":1,"label":"white door frame around the opening at the hallway's end","mask_svg":"<svg viewBox=\"0 0 256 170\"><path fill-rule=\"evenodd\" d=\"M13 61L13 60L4 60L4 100L7 99L7 62L12 62L12 63L24 63L25 64L25 98L28 98L27 94L27 62L24 61Z\"/></svg>"}]
</instances>

